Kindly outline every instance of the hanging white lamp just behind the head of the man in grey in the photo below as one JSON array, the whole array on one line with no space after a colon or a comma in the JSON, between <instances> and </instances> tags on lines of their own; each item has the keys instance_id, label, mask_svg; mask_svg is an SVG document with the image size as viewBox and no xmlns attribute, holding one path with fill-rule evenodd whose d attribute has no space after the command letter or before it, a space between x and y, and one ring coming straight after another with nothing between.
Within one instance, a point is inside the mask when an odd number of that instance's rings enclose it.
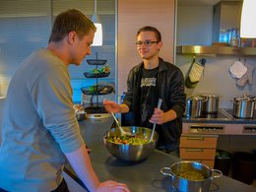
<instances>
[{"instance_id":1,"label":"hanging white lamp just behind the head of the man in grey","mask_svg":"<svg viewBox=\"0 0 256 192\"><path fill-rule=\"evenodd\" d=\"M102 26L99 23L98 15L96 14L96 0L95 0L95 14L92 18L92 22L94 22L96 26L95 38L92 46L101 46L102 45Z\"/></svg>"}]
</instances>

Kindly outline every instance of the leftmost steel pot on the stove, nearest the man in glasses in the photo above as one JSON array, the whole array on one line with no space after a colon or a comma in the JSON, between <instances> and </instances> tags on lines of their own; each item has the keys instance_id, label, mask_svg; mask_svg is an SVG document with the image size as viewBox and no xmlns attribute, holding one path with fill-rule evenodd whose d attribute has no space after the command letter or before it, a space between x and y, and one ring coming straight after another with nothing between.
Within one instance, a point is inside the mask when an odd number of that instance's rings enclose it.
<instances>
[{"instance_id":1,"label":"leftmost steel pot on the stove, nearest the man in glasses","mask_svg":"<svg viewBox=\"0 0 256 192\"><path fill-rule=\"evenodd\" d=\"M201 117L204 98L202 96L187 97L186 117Z\"/></svg>"}]
</instances>

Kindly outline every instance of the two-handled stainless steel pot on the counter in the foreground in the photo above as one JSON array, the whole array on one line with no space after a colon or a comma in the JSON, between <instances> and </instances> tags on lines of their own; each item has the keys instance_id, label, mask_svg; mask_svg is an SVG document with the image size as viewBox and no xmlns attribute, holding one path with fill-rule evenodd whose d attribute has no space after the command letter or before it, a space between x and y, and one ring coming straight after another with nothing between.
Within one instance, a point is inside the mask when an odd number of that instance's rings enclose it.
<instances>
[{"instance_id":1,"label":"two-handled stainless steel pot on the counter in the foreground","mask_svg":"<svg viewBox=\"0 0 256 192\"><path fill-rule=\"evenodd\" d=\"M183 178L180 172L189 171L197 172L204 176L201 180L189 180ZM171 177L173 187L181 192L205 192L209 191L212 179L223 175L221 170L211 169L207 165L195 161L179 161L171 165L171 167L162 167L160 172L163 175ZM217 172L218 174L213 174Z\"/></svg>"}]
</instances>

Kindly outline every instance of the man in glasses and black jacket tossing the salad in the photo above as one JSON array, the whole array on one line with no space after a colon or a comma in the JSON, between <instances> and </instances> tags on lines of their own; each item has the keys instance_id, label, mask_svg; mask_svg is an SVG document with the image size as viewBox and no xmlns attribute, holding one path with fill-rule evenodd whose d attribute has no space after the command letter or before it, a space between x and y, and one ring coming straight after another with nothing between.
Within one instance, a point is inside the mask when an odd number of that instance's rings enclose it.
<instances>
[{"instance_id":1,"label":"man in glasses and black jacket tossing the salad","mask_svg":"<svg viewBox=\"0 0 256 192\"><path fill-rule=\"evenodd\" d=\"M132 112L132 125L153 128L159 133L157 148L179 157L182 114L185 110L184 78L178 67L159 57L160 32L144 27L137 32L138 52L143 61L128 75L127 93L121 104L104 100L108 112ZM162 99L160 109L157 108Z\"/></svg>"}]
</instances>

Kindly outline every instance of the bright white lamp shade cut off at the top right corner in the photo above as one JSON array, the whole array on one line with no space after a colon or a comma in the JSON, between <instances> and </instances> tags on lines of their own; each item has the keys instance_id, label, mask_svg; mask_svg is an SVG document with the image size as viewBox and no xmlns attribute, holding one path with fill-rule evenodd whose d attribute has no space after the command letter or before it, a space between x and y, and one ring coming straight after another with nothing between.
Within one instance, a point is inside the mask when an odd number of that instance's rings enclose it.
<instances>
[{"instance_id":1,"label":"bright white lamp shade cut off at the top right corner","mask_svg":"<svg viewBox=\"0 0 256 192\"><path fill-rule=\"evenodd\" d=\"M240 36L256 38L256 0L243 0Z\"/></svg>"}]
</instances>

